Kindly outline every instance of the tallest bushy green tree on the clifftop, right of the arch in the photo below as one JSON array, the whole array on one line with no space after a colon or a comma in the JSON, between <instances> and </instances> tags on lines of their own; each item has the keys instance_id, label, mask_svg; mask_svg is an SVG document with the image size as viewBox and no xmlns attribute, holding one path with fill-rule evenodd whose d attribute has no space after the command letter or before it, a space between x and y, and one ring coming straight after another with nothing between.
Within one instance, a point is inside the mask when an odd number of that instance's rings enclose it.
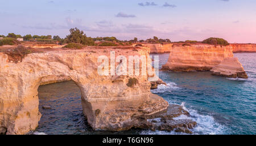
<instances>
[{"instance_id":1,"label":"tallest bushy green tree on the clifftop, right of the arch","mask_svg":"<svg viewBox=\"0 0 256 146\"><path fill-rule=\"evenodd\" d=\"M83 31L80 31L77 28L69 29L70 35L66 37L67 43L75 42L82 45L94 45L93 38L86 37Z\"/></svg>"}]
</instances>

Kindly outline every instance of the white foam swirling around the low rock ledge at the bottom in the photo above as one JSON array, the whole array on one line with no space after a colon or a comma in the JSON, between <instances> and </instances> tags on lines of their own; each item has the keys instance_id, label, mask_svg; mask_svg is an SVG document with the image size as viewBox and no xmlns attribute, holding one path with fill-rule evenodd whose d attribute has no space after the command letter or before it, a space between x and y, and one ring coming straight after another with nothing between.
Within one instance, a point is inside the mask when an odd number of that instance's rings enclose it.
<instances>
[{"instance_id":1,"label":"white foam swirling around the low rock ledge at the bottom","mask_svg":"<svg viewBox=\"0 0 256 146\"><path fill-rule=\"evenodd\" d=\"M170 103L171 104L171 103ZM191 117L188 117L187 115L180 115L179 117L176 117L174 119L191 119L192 121L196 121L197 126L191 130L193 134L197 135L220 135L225 134L226 127L219 124L215 121L215 119L210 115L202 115L197 113L196 110L193 109L187 109L185 107L185 102L182 102L181 106L183 106L184 110L187 110ZM141 134L162 134L162 135L184 135L185 133L182 132L167 132L167 131L142 131ZM187 135L187 134L185 134Z\"/></svg>"}]
</instances>

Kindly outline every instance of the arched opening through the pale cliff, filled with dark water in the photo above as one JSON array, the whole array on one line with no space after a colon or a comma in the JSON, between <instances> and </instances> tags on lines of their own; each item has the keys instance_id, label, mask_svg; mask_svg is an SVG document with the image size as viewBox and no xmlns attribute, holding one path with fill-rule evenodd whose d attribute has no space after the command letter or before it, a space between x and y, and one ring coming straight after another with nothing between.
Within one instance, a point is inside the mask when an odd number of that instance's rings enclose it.
<instances>
[{"instance_id":1,"label":"arched opening through the pale cliff, filled with dark water","mask_svg":"<svg viewBox=\"0 0 256 146\"><path fill-rule=\"evenodd\" d=\"M42 117L36 132L41 134L81 134L92 131L82 113L81 91L74 81L38 88Z\"/></svg>"}]
</instances>

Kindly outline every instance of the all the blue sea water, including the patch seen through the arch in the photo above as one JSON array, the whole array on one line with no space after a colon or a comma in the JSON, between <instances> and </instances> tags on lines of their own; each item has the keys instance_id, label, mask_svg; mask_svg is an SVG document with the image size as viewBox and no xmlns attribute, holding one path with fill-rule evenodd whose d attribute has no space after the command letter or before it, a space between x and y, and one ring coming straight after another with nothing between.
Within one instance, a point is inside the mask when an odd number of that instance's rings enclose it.
<instances>
[{"instance_id":1,"label":"all the blue sea water, including the patch seen through the arch","mask_svg":"<svg viewBox=\"0 0 256 146\"><path fill-rule=\"evenodd\" d=\"M159 64L168 54L159 55ZM256 53L237 53L249 79L229 79L209 72L159 72L167 86L153 93L170 104L179 104L198 123L194 134L256 134ZM40 86L42 118L36 134L180 134L133 129L121 132L93 131L82 115L81 93L73 81ZM51 110L43 110L50 105Z\"/></svg>"}]
</instances>

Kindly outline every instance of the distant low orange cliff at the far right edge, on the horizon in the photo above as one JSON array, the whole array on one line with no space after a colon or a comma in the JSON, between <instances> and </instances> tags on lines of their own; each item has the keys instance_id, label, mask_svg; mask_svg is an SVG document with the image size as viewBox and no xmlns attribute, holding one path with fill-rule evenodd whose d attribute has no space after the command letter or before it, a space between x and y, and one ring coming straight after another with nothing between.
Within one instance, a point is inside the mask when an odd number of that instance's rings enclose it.
<instances>
[{"instance_id":1,"label":"distant low orange cliff at the far right edge, on the horizon","mask_svg":"<svg viewBox=\"0 0 256 146\"><path fill-rule=\"evenodd\" d=\"M230 44L234 53L256 52L256 44Z\"/></svg>"}]
</instances>

